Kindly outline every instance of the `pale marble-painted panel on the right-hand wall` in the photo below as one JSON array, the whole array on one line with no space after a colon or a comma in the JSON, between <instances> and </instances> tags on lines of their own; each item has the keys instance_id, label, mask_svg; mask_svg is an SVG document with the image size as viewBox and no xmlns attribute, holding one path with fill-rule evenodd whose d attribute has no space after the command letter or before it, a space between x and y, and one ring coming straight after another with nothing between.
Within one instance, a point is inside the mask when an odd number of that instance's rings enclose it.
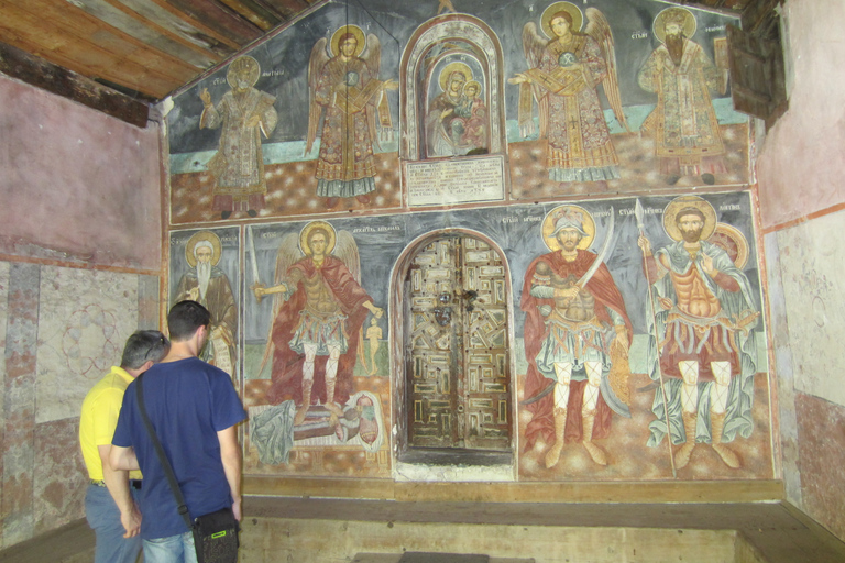
<instances>
[{"instance_id":1,"label":"pale marble-painted panel on the right-hand wall","mask_svg":"<svg viewBox=\"0 0 845 563\"><path fill-rule=\"evenodd\" d=\"M839 211L777 233L795 389L839 406L845 246L832 233L843 219Z\"/></svg>"}]
</instances>

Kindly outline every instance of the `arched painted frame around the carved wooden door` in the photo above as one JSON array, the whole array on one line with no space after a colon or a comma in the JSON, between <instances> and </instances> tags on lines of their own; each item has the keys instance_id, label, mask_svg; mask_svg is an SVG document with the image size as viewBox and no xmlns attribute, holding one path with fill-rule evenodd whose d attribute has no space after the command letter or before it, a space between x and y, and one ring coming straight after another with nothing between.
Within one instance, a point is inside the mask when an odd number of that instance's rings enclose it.
<instances>
[{"instance_id":1,"label":"arched painted frame around the carved wooden door","mask_svg":"<svg viewBox=\"0 0 845 563\"><path fill-rule=\"evenodd\" d=\"M502 250L502 246L497 244L493 239L484 233L472 229L439 229L436 231L429 231L421 234L410 241L399 254L398 258L394 263L393 271L391 272L391 286L389 286L389 303L391 303L391 330L388 345L391 350L391 428L392 431L392 456L393 466L396 467L397 461L403 461L408 450L408 409L407 405L407 374L406 374L406 351L405 351L405 297L406 288L405 280L408 276L411 262L416 254L422 247L431 244L438 239L445 236L459 238L468 236L478 239L485 244L490 245L495 252L498 253L502 258L502 265L504 267L505 277L505 290L509 298L507 299L507 343L508 343L508 412L511 418L508 423L511 426L511 460L513 470L516 472L518 452L518 412L517 412L517 379L516 379L516 357L515 357L515 334L514 334L514 300L513 300L513 285L511 278L511 265L507 260L507 255ZM465 463L468 460L460 459L461 453L456 453L453 456L447 456L446 463L438 463L450 465L450 460L453 460L454 464ZM469 460L472 463L472 460ZM483 463L481 463L483 465Z\"/></svg>"}]
</instances>

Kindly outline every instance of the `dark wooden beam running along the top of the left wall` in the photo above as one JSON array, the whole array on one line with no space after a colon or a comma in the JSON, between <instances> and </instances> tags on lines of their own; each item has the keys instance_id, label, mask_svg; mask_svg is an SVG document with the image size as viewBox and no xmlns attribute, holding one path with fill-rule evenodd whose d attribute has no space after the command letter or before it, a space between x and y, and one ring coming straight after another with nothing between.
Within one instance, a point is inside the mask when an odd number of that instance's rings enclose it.
<instances>
[{"instance_id":1,"label":"dark wooden beam running along the top of the left wall","mask_svg":"<svg viewBox=\"0 0 845 563\"><path fill-rule=\"evenodd\" d=\"M146 103L4 43L0 43L0 73L132 125L146 128L150 114Z\"/></svg>"}]
</instances>

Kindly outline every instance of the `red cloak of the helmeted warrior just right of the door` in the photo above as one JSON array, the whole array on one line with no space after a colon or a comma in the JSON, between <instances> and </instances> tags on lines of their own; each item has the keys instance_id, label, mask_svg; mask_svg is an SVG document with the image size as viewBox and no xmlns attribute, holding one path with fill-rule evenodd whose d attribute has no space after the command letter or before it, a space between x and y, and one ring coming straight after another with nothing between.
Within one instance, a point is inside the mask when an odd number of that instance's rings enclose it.
<instances>
[{"instance_id":1,"label":"red cloak of the helmeted warrior just right of the door","mask_svg":"<svg viewBox=\"0 0 845 563\"><path fill-rule=\"evenodd\" d=\"M580 250L578 251L578 257L572 262L567 262L560 252L550 252L538 256L528 266L528 271L525 273L525 282L523 284L523 298L519 308L525 311L525 356L528 360L528 373L525 377L525 399L530 399L535 395L546 389L551 383L542 376L537 368L537 353L542 346L542 342L547 336L547 329L545 324L545 318L537 309L540 305L549 305L555 307L553 299L540 299L530 295L531 282L534 274L537 269L539 262L548 264L552 272L561 278L567 278L570 275L580 279L593 261L596 258L595 253ZM607 313L607 309L613 309L625 320L625 328L627 329L628 344L630 344L633 338L633 330L630 325L630 319L625 311L625 302L622 299L622 294L616 287L616 283L611 276L611 272L605 264L599 266L593 277L586 283L585 289L590 291L595 298L595 316L608 325L613 325L613 320ZM572 380L569 385L569 405L572 408L567 409L567 427L566 427L566 441L577 442L582 438L581 428L581 405L583 405L584 386L586 380L575 382ZM556 442L555 437L555 418L553 418L553 393L549 393L540 400L527 405L526 408L534 413L531 421L528 422L528 427L525 431L525 451L529 450L537 438L542 435L546 445L551 446ZM611 416L612 411L604 398L600 395L599 402L596 405L595 426L593 427L593 438L606 438L611 432Z\"/></svg>"}]
</instances>

